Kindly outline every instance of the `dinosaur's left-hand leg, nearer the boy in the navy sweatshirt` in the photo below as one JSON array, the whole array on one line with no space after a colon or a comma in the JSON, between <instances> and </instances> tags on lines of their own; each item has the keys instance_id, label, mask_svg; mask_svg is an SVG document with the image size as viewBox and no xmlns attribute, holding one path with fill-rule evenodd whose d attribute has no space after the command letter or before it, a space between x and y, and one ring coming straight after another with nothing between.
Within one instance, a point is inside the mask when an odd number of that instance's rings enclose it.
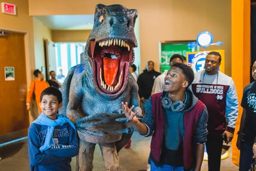
<instances>
[{"instance_id":1,"label":"dinosaur's left-hand leg, nearer the boy in the navy sweatshirt","mask_svg":"<svg viewBox=\"0 0 256 171\"><path fill-rule=\"evenodd\" d=\"M92 171L93 170L93 154L95 149L94 143L79 141L79 170Z\"/></svg>"}]
</instances>

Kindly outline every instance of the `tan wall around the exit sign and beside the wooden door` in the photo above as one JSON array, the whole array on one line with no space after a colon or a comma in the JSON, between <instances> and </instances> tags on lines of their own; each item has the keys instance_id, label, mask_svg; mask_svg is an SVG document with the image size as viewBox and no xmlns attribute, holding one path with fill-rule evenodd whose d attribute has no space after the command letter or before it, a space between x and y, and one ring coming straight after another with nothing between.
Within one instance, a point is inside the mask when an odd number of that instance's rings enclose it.
<instances>
[{"instance_id":1,"label":"tan wall around the exit sign and beside the wooden door","mask_svg":"<svg viewBox=\"0 0 256 171\"><path fill-rule=\"evenodd\" d=\"M16 15L0 13L0 30L10 30L25 33L25 55L27 81L32 79L32 72L35 67L34 61L34 39L33 20L29 16L28 0L6 0L5 3L16 5ZM1 1L2 3L2 1ZM15 50L15 49L14 49ZM29 85L28 85L29 86Z\"/></svg>"}]
</instances>

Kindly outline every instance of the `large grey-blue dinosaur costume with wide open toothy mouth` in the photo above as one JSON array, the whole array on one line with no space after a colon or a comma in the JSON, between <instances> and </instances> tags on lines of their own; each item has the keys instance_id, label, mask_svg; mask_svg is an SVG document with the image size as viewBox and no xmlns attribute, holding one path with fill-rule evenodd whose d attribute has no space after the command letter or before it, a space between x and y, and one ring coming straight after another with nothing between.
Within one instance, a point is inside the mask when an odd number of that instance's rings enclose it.
<instances>
[{"instance_id":1,"label":"large grey-blue dinosaur costume with wide open toothy mouth","mask_svg":"<svg viewBox=\"0 0 256 171\"><path fill-rule=\"evenodd\" d=\"M107 170L118 170L117 153L133 132L129 122L115 120L125 120L121 102L134 105L141 117L138 86L128 72L134 61L133 48L137 47L134 33L137 16L135 9L98 4L84 50L86 57L69 71L62 84L63 107L59 113L67 114L76 124L80 170L92 170L97 143Z\"/></svg>"}]
</instances>

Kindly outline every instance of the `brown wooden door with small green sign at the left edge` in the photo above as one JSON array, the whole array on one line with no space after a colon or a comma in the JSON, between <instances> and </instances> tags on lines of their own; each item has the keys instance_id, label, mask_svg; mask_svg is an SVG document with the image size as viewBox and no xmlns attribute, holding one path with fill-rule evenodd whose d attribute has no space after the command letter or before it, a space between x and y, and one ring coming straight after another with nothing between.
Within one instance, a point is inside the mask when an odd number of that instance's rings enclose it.
<instances>
[{"instance_id":1,"label":"brown wooden door with small green sign at the left edge","mask_svg":"<svg viewBox=\"0 0 256 171\"><path fill-rule=\"evenodd\" d=\"M7 68L6 68L7 67ZM8 76L8 69L14 74ZM0 136L29 126L24 34L0 35Z\"/></svg>"}]
</instances>

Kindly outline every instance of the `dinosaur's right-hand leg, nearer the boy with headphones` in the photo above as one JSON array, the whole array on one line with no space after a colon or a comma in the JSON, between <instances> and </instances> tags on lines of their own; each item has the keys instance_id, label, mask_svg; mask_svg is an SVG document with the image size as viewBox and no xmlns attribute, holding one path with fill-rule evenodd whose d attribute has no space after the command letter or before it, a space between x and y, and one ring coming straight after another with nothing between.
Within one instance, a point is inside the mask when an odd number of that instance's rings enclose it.
<instances>
[{"instance_id":1,"label":"dinosaur's right-hand leg, nearer the boy with headphones","mask_svg":"<svg viewBox=\"0 0 256 171\"><path fill-rule=\"evenodd\" d=\"M119 157L116 151L116 144L108 143L108 144L99 144L102 158L105 163L105 167L107 171L117 171L119 170Z\"/></svg>"}]
</instances>

